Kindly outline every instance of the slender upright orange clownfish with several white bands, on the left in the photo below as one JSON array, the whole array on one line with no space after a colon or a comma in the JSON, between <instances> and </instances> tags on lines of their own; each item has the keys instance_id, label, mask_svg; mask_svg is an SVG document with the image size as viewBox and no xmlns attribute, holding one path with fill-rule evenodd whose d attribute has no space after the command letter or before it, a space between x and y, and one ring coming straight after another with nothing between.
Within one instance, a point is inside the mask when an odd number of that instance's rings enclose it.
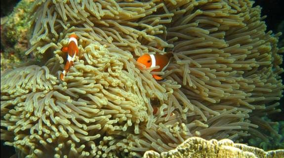
<instances>
[{"instance_id":1,"label":"slender upright orange clownfish with several white bands, on the left","mask_svg":"<svg viewBox=\"0 0 284 158\"><path fill-rule=\"evenodd\" d=\"M76 56L79 55L79 49L78 49L78 40L77 36L75 34L72 34L69 36L68 46L63 47L61 51L67 52L67 61L64 66L63 72L60 74L60 79L63 81L64 77L68 73L69 69L73 66L73 62Z\"/></svg>"}]
</instances>

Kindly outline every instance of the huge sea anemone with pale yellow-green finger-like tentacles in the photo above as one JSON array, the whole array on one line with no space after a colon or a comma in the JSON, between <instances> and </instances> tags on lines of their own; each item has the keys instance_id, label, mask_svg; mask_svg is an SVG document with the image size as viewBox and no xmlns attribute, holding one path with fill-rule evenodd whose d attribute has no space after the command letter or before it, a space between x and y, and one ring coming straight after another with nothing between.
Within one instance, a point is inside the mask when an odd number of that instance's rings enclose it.
<instances>
[{"instance_id":1,"label":"huge sea anemone with pale yellow-green finger-like tentacles","mask_svg":"<svg viewBox=\"0 0 284 158\"><path fill-rule=\"evenodd\" d=\"M283 48L249 0L36 0L38 65L1 75L1 139L19 157L142 157L187 138L242 141L279 112ZM62 46L79 37L64 82ZM173 51L162 73L145 53ZM153 108L159 112L153 115Z\"/></svg>"}]
</instances>

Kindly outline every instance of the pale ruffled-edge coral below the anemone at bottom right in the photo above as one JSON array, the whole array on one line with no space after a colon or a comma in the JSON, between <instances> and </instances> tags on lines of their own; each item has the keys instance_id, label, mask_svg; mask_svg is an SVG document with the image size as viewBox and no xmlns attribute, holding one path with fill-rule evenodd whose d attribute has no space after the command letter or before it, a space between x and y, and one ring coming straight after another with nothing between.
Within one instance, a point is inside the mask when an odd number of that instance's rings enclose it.
<instances>
[{"instance_id":1,"label":"pale ruffled-edge coral below the anemone at bottom right","mask_svg":"<svg viewBox=\"0 0 284 158\"><path fill-rule=\"evenodd\" d=\"M262 149L234 143L229 139L204 140L191 137L173 150L164 153L147 151L144 158L283 158L284 150L265 152Z\"/></svg>"}]
</instances>

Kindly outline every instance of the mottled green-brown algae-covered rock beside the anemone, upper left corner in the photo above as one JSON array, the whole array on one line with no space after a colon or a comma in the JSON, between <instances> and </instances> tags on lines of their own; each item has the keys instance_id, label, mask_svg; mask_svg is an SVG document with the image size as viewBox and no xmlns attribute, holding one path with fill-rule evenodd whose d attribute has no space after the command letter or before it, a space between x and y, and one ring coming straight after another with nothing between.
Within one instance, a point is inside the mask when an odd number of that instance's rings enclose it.
<instances>
[{"instance_id":1,"label":"mottled green-brown algae-covered rock beside the anemone, upper left corner","mask_svg":"<svg viewBox=\"0 0 284 158\"><path fill-rule=\"evenodd\" d=\"M4 57L10 64L27 61L25 51L29 47L29 11L33 1L21 0L10 15L1 17L1 60ZM13 60L14 58L20 60ZM1 62L1 71L6 68L6 64Z\"/></svg>"}]
</instances>

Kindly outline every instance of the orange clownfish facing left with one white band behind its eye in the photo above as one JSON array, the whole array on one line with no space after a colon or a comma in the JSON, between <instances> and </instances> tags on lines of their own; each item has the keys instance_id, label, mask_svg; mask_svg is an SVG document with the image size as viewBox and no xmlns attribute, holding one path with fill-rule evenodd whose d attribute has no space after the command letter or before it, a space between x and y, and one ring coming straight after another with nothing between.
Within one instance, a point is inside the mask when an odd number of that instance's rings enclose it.
<instances>
[{"instance_id":1,"label":"orange clownfish facing left with one white band behind its eye","mask_svg":"<svg viewBox=\"0 0 284 158\"><path fill-rule=\"evenodd\" d=\"M160 66L158 69L152 70L153 72L161 72L168 66L173 54L171 52L166 54L144 54L137 59L138 63L146 66L146 68L153 68L155 66ZM162 78L158 75L153 75L154 79L161 80Z\"/></svg>"}]
</instances>

